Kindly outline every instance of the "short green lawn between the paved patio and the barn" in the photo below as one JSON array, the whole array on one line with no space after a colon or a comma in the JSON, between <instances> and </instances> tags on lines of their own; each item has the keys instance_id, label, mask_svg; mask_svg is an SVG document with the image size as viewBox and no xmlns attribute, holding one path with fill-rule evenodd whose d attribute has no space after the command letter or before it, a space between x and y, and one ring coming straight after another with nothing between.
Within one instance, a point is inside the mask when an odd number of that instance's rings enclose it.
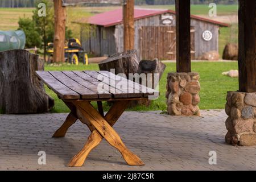
<instances>
[{"instance_id":1,"label":"short green lawn between the paved patio and the barn","mask_svg":"<svg viewBox=\"0 0 256 182\"><path fill-rule=\"evenodd\" d=\"M166 77L168 72L175 72L175 63L166 63L167 68L164 72L162 79L159 84L160 97L158 100L154 100L150 107L138 106L130 110L166 110ZM221 75L222 72L229 71L230 69L238 69L237 62L232 63L213 63L213 62L198 62L192 63L192 71L200 73L200 84L201 84L201 103L200 109L224 109L226 92L238 89L238 78L230 78ZM50 67L46 65L46 70L61 70L61 71L72 71L72 70L98 70L97 64L85 65L63 65L61 67ZM47 93L55 99L55 107L52 112L62 113L68 112L67 106L59 100L55 93L46 88ZM109 106L104 103L105 109Z\"/></svg>"}]
</instances>

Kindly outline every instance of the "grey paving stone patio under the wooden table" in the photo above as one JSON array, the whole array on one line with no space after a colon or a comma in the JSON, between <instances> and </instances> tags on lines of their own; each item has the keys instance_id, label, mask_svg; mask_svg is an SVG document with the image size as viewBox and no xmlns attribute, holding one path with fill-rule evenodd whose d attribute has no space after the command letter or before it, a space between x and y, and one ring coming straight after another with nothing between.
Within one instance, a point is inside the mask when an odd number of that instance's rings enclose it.
<instances>
[{"instance_id":1,"label":"grey paving stone patio under the wooden table","mask_svg":"<svg viewBox=\"0 0 256 182\"><path fill-rule=\"evenodd\" d=\"M224 110L202 110L201 117L177 117L160 111L126 111L114 129L145 166L128 166L103 140L79 168L66 167L86 142L90 131L77 121L64 138L51 138L67 113L0 115L1 170L255 170L256 147L224 142ZM39 151L46 165L39 165ZM217 165L210 165L216 151Z\"/></svg>"}]
</instances>

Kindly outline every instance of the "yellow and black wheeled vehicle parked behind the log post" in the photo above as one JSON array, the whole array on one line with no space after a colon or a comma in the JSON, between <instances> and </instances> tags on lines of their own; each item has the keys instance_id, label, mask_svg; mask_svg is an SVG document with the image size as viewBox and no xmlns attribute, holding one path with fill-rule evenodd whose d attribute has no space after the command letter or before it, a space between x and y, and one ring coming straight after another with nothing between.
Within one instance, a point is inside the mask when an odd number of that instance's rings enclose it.
<instances>
[{"instance_id":1,"label":"yellow and black wheeled vehicle parked behind the log post","mask_svg":"<svg viewBox=\"0 0 256 182\"><path fill-rule=\"evenodd\" d=\"M69 39L64 49L67 63L78 65L79 61L81 61L83 64L88 65L88 55L81 47L79 39ZM53 63L53 43L48 43L47 54L47 64Z\"/></svg>"}]
</instances>

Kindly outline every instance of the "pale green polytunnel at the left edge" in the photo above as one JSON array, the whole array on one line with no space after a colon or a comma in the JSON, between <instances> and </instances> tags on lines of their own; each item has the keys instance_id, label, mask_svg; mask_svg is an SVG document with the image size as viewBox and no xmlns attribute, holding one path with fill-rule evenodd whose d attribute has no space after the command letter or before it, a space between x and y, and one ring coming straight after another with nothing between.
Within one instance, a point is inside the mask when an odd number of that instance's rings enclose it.
<instances>
[{"instance_id":1,"label":"pale green polytunnel at the left edge","mask_svg":"<svg viewBox=\"0 0 256 182\"><path fill-rule=\"evenodd\" d=\"M0 51L24 49L26 35L22 30L0 31Z\"/></svg>"}]
</instances>

